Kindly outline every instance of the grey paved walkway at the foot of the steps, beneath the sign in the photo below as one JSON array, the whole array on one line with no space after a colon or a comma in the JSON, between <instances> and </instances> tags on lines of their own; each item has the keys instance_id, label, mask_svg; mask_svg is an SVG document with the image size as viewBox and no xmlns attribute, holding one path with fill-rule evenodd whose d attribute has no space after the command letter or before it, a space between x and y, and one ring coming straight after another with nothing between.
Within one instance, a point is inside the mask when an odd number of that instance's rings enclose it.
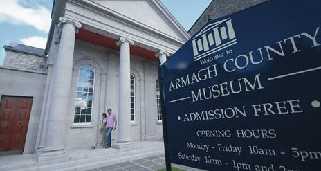
<instances>
[{"instance_id":1,"label":"grey paved walkway at the foot of the steps, beneath the sign","mask_svg":"<svg viewBox=\"0 0 321 171\"><path fill-rule=\"evenodd\" d=\"M188 171L201 171L199 169L195 168L190 168L187 166L183 165L176 165L172 164L172 166L176 168L180 168L183 170L188 170ZM157 155L157 156L149 156L143 159L137 159L134 161L127 161L124 163L119 163L116 165L109 165L105 166L102 168L95 168L92 170L88 171L145 171L145 170L160 170L166 168L165 166L165 156L164 154L162 155Z\"/></svg>"}]
</instances>

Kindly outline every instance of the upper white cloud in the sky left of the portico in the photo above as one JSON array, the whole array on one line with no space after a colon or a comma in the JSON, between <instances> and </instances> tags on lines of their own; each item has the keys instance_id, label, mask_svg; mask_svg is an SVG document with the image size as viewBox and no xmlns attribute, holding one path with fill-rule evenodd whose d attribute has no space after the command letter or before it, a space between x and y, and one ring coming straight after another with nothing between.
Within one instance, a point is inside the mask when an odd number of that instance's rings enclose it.
<instances>
[{"instance_id":1,"label":"upper white cloud in the sky left of the portico","mask_svg":"<svg viewBox=\"0 0 321 171\"><path fill-rule=\"evenodd\" d=\"M23 1L0 1L0 22L33 26L37 30L48 33L51 24L51 11L44 6L26 7Z\"/></svg>"}]
</instances>

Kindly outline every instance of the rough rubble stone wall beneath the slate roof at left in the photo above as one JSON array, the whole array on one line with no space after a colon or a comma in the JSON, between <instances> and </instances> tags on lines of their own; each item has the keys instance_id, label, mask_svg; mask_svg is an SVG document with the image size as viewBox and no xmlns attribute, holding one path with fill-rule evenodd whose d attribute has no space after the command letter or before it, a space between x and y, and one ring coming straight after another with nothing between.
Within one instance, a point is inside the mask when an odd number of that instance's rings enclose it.
<instances>
[{"instance_id":1,"label":"rough rubble stone wall beneath the slate roof at left","mask_svg":"<svg viewBox=\"0 0 321 171\"><path fill-rule=\"evenodd\" d=\"M42 56L6 51L3 66L33 71L44 71L46 59Z\"/></svg>"}]
</instances>

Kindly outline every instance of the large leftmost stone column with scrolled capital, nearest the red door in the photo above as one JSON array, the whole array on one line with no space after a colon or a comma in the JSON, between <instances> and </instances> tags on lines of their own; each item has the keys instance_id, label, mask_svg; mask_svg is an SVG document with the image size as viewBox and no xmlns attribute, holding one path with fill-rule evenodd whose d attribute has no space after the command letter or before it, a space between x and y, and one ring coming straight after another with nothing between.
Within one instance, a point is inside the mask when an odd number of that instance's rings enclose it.
<instances>
[{"instance_id":1,"label":"large leftmost stone column with scrolled capital, nearest the red door","mask_svg":"<svg viewBox=\"0 0 321 171\"><path fill-rule=\"evenodd\" d=\"M44 148L39 153L38 160L55 157L62 159L62 155L66 154L64 137L71 91L75 33L82 24L66 17L60 17L59 20L61 21L59 26L62 26L62 35L53 71L52 96L48 100L50 106Z\"/></svg>"}]
</instances>

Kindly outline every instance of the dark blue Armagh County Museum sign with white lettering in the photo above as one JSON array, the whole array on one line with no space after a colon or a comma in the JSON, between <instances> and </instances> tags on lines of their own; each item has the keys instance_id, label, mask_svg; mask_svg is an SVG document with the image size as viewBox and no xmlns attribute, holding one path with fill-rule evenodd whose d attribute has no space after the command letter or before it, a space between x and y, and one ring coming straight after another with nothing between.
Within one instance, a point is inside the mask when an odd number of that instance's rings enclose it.
<instances>
[{"instance_id":1,"label":"dark blue Armagh County Museum sign with white lettering","mask_svg":"<svg viewBox=\"0 0 321 171\"><path fill-rule=\"evenodd\" d=\"M172 163L321 170L321 1L210 21L162 66Z\"/></svg>"}]
</instances>

